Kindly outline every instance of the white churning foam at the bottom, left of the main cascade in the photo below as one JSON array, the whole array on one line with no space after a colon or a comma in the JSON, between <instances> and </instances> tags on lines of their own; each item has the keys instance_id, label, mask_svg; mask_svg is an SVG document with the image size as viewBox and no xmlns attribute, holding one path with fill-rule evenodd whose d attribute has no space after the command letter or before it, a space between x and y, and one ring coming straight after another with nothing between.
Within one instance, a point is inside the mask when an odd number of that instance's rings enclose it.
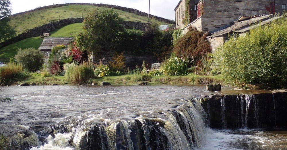
<instances>
[{"instance_id":1,"label":"white churning foam at the bottom, left of the main cascade","mask_svg":"<svg viewBox=\"0 0 287 150\"><path fill-rule=\"evenodd\" d=\"M41 147L32 147L30 150L73 150L69 144L70 139L71 135L65 133L56 134L54 139L49 135L47 137L47 144Z\"/></svg>"}]
</instances>

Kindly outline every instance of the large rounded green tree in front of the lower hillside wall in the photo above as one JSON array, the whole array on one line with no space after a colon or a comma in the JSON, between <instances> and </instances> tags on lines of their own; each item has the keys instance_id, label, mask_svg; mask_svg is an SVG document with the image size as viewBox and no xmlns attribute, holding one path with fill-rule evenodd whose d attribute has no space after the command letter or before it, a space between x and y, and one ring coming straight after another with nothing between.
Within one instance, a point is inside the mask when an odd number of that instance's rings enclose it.
<instances>
[{"instance_id":1,"label":"large rounded green tree in front of the lower hillside wall","mask_svg":"<svg viewBox=\"0 0 287 150\"><path fill-rule=\"evenodd\" d=\"M88 52L114 49L124 28L122 19L113 9L96 9L85 17L83 29L75 35L77 47Z\"/></svg>"}]
</instances>

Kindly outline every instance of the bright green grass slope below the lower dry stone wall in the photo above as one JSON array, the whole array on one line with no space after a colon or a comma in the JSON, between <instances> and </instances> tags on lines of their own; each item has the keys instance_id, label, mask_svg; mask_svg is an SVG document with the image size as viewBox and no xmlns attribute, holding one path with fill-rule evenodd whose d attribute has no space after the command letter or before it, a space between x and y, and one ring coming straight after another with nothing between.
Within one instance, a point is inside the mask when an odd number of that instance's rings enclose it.
<instances>
[{"instance_id":1,"label":"bright green grass slope below the lower dry stone wall","mask_svg":"<svg viewBox=\"0 0 287 150\"><path fill-rule=\"evenodd\" d=\"M51 32L50 37L71 37L73 33L76 33L82 30L83 23L74 23L57 29ZM6 47L0 49L0 61L1 62L8 62L10 57L14 57L17 53L17 49L26 49L30 47L34 47L38 49L42 43L43 39L39 37L31 37L28 39L24 39L22 41L13 43Z\"/></svg>"}]
</instances>

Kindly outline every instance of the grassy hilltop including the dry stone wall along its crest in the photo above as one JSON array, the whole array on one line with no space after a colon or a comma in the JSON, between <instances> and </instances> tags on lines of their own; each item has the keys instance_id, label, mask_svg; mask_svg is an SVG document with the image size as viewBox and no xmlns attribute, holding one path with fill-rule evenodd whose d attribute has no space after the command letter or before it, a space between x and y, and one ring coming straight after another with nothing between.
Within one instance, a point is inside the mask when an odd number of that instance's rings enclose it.
<instances>
[{"instance_id":1,"label":"grassy hilltop including the dry stone wall along its crest","mask_svg":"<svg viewBox=\"0 0 287 150\"><path fill-rule=\"evenodd\" d=\"M28 29L39 27L49 22L58 21L59 19L81 18L88 15L94 9L114 8L119 16L126 21L147 22L148 14L136 9L106 5L106 4L89 4L89 3L66 3L51 6L38 7L36 9L11 15L10 25L15 29L16 34L23 33ZM159 25L172 25L174 21L150 15L150 21Z\"/></svg>"}]
</instances>

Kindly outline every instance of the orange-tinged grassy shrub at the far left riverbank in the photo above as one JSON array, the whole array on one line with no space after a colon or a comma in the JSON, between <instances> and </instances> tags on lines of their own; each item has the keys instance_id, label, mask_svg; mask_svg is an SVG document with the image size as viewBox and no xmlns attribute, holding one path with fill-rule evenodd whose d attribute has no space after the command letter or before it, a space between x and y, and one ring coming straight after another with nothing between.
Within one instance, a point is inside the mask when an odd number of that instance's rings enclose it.
<instances>
[{"instance_id":1,"label":"orange-tinged grassy shrub at the far left riverbank","mask_svg":"<svg viewBox=\"0 0 287 150\"><path fill-rule=\"evenodd\" d=\"M29 75L22 72L22 65L15 62L7 63L6 66L0 67L0 80L6 85L11 85L15 81L26 79Z\"/></svg>"}]
</instances>

